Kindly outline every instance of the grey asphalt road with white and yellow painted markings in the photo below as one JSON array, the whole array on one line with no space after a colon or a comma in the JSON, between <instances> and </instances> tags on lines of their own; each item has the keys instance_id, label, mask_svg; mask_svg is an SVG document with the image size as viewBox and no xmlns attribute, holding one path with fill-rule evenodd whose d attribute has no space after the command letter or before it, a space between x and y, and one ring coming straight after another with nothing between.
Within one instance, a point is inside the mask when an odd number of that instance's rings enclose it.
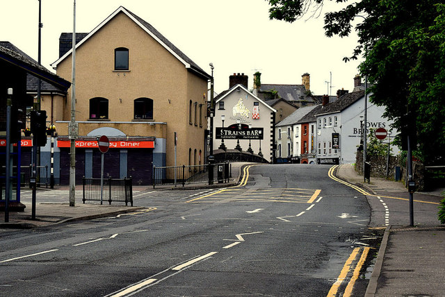
<instances>
[{"instance_id":1,"label":"grey asphalt road with white and yellow painted markings","mask_svg":"<svg viewBox=\"0 0 445 297\"><path fill-rule=\"evenodd\" d=\"M237 187L147 190L142 211L0 233L1 294L363 296L378 237L330 168L246 167Z\"/></svg>"}]
</instances>

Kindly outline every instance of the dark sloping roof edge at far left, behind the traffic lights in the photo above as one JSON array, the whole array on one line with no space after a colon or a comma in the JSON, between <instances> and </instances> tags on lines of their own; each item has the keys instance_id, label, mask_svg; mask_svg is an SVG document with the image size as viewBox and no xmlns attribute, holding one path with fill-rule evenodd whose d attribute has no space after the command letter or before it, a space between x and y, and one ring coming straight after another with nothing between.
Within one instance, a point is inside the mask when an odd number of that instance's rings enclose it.
<instances>
[{"instance_id":1,"label":"dark sloping roof edge at far left, behind the traffic lights","mask_svg":"<svg viewBox=\"0 0 445 297\"><path fill-rule=\"evenodd\" d=\"M19 50L10 42L0 42L0 60L15 65L15 67L22 68L28 74L36 76L51 85L55 85L61 90L67 90L71 85L69 81L60 78L42 65L39 65L37 61L26 55L26 53Z\"/></svg>"}]
</instances>

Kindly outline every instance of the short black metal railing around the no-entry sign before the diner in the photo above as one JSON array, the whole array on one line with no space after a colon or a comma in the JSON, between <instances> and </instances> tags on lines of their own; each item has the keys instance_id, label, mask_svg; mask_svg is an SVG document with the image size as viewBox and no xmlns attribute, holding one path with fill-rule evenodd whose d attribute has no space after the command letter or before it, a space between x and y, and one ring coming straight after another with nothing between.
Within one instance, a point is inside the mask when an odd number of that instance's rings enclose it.
<instances>
[{"instance_id":1,"label":"short black metal railing around the no-entry sign before the diner","mask_svg":"<svg viewBox=\"0 0 445 297\"><path fill-rule=\"evenodd\" d=\"M124 202L125 205L131 203L133 206L133 180L132 178L123 179L104 179L104 191L101 200L100 178L82 178L83 198L82 201L112 201Z\"/></svg>"}]
</instances>

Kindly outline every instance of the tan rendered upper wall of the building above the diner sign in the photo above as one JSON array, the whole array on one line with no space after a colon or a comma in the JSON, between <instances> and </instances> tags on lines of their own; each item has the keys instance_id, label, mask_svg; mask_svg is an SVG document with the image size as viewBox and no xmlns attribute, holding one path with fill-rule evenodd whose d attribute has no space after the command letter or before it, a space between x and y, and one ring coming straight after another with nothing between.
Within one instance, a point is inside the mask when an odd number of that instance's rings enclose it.
<instances>
[{"instance_id":1,"label":"tan rendered upper wall of the building above the diner sign","mask_svg":"<svg viewBox=\"0 0 445 297\"><path fill-rule=\"evenodd\" d=\"M129 49L129 71L114 70L114 50L118 47ZM71 80L71 65L71 56L61 61L57 65L58 76ZM163 137L166 139L168 166L174 162L174 132L179 135L178 164L188 164L189 148L201 150L204 155L207 105L203 94L206 92L206 79L188 71L181 61L123 12L76 50L76 121L81 121L79 135L86 135L98 126L110 126L122 130L127 136ZM89 119L89 100L94 97L108 99L108 121ZM159 134L163 128L154 130L160 124L149 126L150 120L133 119L133 101L140 97L154 101L151 121L167 123L163 133ZM188 122L190 100L203 104L202 127ZM71 90L63 108L63 121L70 121L70 102ZM122 121L126 123L120 124ZM128 124L131 121L147 123ZM62 131L62 128L58 129L59 135L66 135Z\"/></svg>"}]
</instances>

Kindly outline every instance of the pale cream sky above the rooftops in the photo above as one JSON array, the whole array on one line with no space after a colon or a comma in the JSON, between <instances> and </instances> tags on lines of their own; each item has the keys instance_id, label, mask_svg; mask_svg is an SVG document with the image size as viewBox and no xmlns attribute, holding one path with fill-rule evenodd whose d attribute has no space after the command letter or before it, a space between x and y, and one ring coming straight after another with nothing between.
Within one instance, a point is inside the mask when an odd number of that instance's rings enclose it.
<instances>
[{"instance_id":1,"label":"pale cream sky above the rooftops","mask_svg":"<svg viewBox=\"0 0 445 297\"><path fill-rule=\"evenodd\" d=\"M0 41L9 41L38 60L38 0L0 0ZM54 71L60 33L73 30L74 0L41 0L42 65ZM338 10L326 3L321 17L292 24L270 20L265 0L76 0L76 32L89 33L119 6L124 6L166 37L208 74L213 63L217 93L227 90L229 76L253 74L264 84L302 84L310 74L316 95L352 92L360 60L343 62L357 46L357 35L325 37L323 15ZM332 82L332 83L330 83Z\"/></svg>"}]
</instances>

